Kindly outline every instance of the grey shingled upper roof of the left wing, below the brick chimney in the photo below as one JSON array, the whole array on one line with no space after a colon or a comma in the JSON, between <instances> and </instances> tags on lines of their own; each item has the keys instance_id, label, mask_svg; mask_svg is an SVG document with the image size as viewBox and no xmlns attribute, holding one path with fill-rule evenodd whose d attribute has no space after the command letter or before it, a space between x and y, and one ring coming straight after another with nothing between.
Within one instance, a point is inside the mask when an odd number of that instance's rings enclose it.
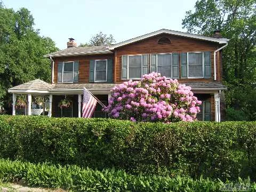
<instances>
[{"instance_id":1,"label":"grey shingled upper roof of the left wing, below the brick chimney","mask_svg":"<svg viewBox=\"0 0 256 192\"><path fill-rule=\"evenodd\" d=\"M66 56L77 56L77 55L90 55L90 54L103 54L113 53L108 50L109 45L100 46L86 46L86 47L70 47L65 50L53 52L44 55L44 57L66 57Z\"/></svg>"}]
</instances>

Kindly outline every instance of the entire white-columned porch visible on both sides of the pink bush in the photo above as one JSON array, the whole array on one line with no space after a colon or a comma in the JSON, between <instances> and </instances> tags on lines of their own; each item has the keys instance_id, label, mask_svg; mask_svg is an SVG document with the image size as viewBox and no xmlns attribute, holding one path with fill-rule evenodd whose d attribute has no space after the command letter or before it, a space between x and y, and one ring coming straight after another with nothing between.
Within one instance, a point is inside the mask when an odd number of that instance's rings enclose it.
<instances>
[{"instance_id":1,"label":"entire white-columned porch visible on both sides of the pink bush","mask_svg":"<svg viewBox=\"0 0 256 192\"><path fill-rule=\"evenodd\" d=\"M221 95L222 90L227 88L220 83L184 83L191 87L191 90L202 101L201 112L197 118L201 121L217 121L222 120L222 104L224 103ZM81 117L82 114L82 97L83 87L92 92L103 104L108 104L110 90L117 84L109 83L66 83L66 84L49 84L40 79L35 79L9 89L9 93L13 94L12 115L16 115L16 102L18 94L26 95L26 115L31 113L32 98L35 95L48 97L44 106L49 106L49 117ZM67 108L60 108L61 100L67 98L70 105ZM106 113L102 112L102 107L97 103L93 117L107 117Z\"/></svg>"}]
</instances>

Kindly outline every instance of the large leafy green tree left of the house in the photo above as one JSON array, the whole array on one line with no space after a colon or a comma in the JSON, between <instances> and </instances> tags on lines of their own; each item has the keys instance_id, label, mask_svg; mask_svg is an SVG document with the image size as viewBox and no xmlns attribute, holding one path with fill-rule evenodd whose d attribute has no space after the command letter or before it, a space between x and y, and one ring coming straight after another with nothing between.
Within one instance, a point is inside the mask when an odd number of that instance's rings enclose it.
<instances>
[{"instance_id":1,"label":"large leafy green tree left of the house","mask_svg":"<svg viewBox=\"0 0 256 192\"><path fill-rule=\"evenodd\" d=\"M0 101L9 111L10 87L40 78L50 82L51 63L44 54L57 51L49 37L41 37L34 18L21 8L17 12L0 5Z\"/></svg>"}]
</instances>

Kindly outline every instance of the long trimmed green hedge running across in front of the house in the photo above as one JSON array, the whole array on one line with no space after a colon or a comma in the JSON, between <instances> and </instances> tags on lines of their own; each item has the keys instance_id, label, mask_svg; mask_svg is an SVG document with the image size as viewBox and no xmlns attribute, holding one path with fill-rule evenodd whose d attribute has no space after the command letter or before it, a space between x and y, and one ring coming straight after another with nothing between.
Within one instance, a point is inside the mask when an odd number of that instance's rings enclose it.
<instances>
[{"instance_id":1,"label":"long trimmed green hedge running across in front of the house","mask_svg":"<svg viewBox=\"0 0 256 192\"><path fill-rule=\"evenodd\" d=\"M256 180L255 122L0 116L0 158L129 173Z\"/></svg>"}]
</instances>

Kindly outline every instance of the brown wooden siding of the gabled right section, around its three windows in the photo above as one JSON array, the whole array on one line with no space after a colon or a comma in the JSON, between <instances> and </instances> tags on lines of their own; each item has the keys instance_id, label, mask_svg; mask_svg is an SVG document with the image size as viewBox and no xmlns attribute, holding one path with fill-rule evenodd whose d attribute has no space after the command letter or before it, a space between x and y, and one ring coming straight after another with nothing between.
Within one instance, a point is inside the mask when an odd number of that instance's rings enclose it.
<instances>
[{"instance_id":1,"label":"brown wooden siding of the gabled right section, around its three windows","mask_svg":"<svg viewBox=\"0 0 256 192\"><path fill-rule=\"evenodd\" d=\"M169 37L171 44L158 44L158 39L161 37ZM181 53L181 52L195 52L195 51L211 51L211 78L196 78L196 79L179 79L180 82L210 82L214 80L214 66L213 66L213 52L218 49L220 45L218 43L205 42L192 38L179 37L174 35L158 35L148 39L144 39L141 42L133 43L123 47L118 47L116 52L116 66L115 66L115 83L122 82L121 79L121 63L122 55L134 55L134 54L153 54L153 53ZM217 81L221 81L220 69L221 63L217 56ZM149 58L150 60L150 58ZM179 57L180 60L180 57ZM180 70L181 71L181 70ZM180 74L179 74L180 75Z\"/></svg>"}]
</instances>

